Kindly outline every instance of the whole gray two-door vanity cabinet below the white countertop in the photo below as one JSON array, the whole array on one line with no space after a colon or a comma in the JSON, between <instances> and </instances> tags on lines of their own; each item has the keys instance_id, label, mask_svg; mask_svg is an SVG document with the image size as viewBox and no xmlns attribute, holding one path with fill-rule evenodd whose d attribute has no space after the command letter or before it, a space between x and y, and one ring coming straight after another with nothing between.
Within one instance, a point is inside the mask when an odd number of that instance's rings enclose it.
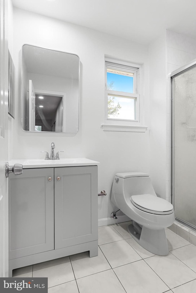
<instances>
[{"instance_id":1,"label":"whole gray two-door vanity cabinet below the white countertop","mask_svg":"<svg viewBox=\"0 0 196 293\"><path fill-rule=\"evenodd\" d=\"M97 166L25 168L9 175L12 270L89 251L98 254Z\"/></svg>"}]
</instances>

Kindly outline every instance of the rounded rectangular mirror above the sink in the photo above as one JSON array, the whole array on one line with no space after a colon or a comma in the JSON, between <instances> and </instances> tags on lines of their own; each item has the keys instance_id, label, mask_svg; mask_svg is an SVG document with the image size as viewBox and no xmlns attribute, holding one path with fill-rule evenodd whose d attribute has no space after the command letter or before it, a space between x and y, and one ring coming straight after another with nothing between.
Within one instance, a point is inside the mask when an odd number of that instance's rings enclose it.
<instances>
[{"instance_id":1,"label":"rounded rectangular mirror above the sink","mask_svg":"<svg viewBox=\"0 0 196 293\"><path fill-rule=\"evenodd\" d=\"M32 45L22 47L22 129L76 133L79 57Z\"/></svg>"}]
</instances>

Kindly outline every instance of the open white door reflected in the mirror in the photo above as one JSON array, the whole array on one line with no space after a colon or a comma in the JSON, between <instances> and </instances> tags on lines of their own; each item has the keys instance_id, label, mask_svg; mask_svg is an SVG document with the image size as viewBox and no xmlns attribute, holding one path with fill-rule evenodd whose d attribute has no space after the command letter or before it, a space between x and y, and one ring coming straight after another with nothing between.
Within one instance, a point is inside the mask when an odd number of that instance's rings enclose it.
<instances>
[{"instance_id":1,"label":"open white door reflected in the mirror","mask_svg":"<svg viewBox=\"0 0 196 293\"><path fill-rule=\"evenodd\" d=\"M32 80L29 79L29 131L35 131L36 125L36 93Z\"/></svg>"}]
</instances>

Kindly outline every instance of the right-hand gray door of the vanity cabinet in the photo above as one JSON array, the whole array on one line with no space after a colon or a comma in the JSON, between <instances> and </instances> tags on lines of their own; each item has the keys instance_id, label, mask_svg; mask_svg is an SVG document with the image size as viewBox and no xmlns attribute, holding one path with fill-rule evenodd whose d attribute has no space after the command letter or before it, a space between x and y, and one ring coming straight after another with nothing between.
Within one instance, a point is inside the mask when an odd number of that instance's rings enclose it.
<instances>
[{"instance_id":1,"label":"right-hand gray door of the vanity cabinet","mask_svg":"<svg viewBox=\"0 0 196 293\"><path fill-rule=\"evenodd\" d=\"M97 196L97 166L55 168L55 249L98 239Z\"/></svg>"}]
</instances>

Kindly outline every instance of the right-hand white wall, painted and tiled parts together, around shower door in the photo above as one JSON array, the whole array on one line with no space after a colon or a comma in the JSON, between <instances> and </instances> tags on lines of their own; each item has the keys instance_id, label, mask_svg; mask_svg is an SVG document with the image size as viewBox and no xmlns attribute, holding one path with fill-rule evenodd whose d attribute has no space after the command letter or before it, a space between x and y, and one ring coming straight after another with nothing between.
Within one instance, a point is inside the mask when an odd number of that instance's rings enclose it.
<instances>
[{"instance_id":1,"label":"right-hand white wall, painted and tiled parts together, around shower door","mask_svg":"<svg viewBox=\"0 0 196 293\"><path fill-rule=\"evenodd\" d=\"M149 45L150 176L171 202L171 103L168 74L196 58L196 40L166 31ZM166 94L165 94L166 93Z\"/></svg>"}]
</instances>

